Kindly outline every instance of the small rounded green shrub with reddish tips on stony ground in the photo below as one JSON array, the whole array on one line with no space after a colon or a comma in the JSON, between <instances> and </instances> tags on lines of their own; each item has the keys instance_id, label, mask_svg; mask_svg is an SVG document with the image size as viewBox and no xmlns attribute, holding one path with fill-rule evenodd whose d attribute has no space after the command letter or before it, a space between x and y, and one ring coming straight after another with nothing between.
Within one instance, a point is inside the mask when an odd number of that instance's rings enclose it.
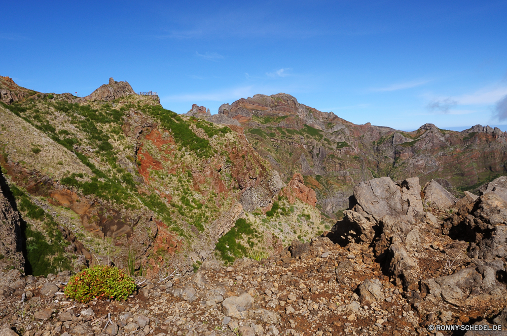
<instances>
[{"instance_id":1,"label":"small rounded green shrub with reddish tips on stony ground","mask_svg":"<svg viewBox=\"0 0 507 336\"><path fill-rule=\"evenodd\" d=\"M111 266L95 266L70 277L65 286L65 296L87 303L99 300L126 300L136 285L123 270Z\"/></svg>"}]
</instances>

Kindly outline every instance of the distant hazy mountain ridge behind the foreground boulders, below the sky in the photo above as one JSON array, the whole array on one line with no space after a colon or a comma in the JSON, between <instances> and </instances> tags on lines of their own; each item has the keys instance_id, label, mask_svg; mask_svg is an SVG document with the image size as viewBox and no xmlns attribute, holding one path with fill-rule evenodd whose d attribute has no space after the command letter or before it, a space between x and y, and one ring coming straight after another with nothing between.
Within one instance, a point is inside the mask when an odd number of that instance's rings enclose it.
<instances>
[{"instance_id":1,"label":"distant hazy mountain ridge behind the foreground boulders, below the sky","mask_svg":"<svg viewBox=\"0 0 507 336\"><path fill-rule=\"evenodd\" d=\"M507 134L497 128L453 132L424 124L402 132L356 125L283 93L223 104L220 114L242 125L283 181L301 173L317 193L318 208L333 218L348 207L353 187L372 178L417 176L421 184L436 179L462 196L507 173Z\"/></svg>"}]
</instances>

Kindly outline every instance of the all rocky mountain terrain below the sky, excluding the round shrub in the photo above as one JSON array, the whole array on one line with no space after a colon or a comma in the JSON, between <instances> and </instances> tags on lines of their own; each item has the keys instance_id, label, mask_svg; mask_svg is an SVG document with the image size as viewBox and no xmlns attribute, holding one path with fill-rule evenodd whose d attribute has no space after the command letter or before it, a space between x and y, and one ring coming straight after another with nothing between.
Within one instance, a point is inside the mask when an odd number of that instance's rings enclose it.
<instances>
[{"instance_id":1,"label":"all rocky mountain terrain below the sky, excluding the round shrub","mask_svg":"<svg viewBox=\"0 0 507 336\"><path fill-rule=\"evenodd\" d=\"M498 129L354 125L285 94L178 115L113 78L83 98L0 85L1 336L507 328ZM67 301L97 264L132 270L134 295Z\"/></svg>"}]
</instances>

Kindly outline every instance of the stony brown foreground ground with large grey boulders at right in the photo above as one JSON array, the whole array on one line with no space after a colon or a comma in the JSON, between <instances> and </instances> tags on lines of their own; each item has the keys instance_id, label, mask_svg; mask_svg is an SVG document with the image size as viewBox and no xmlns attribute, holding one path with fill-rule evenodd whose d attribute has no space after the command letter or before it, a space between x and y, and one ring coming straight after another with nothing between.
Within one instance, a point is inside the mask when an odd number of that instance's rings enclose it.
<instances>
[{"instance_id":1,"label":"stony brown foreground ground with large grey boulders at right","mask_svg":"<svg viewBox=\"0 0 507 336\"><path fill-rule=\"evenodd\" d=\"M505 330L507 183L481 190L457 200L434 181L422 192L417 178L361 182L333 232L261 262L207 260L195 274L139 277L126 302L66 301L68 273L1 273L0 335L413 335L430 334L430 324L491 323Z\"/></svg>"}]
</instances>

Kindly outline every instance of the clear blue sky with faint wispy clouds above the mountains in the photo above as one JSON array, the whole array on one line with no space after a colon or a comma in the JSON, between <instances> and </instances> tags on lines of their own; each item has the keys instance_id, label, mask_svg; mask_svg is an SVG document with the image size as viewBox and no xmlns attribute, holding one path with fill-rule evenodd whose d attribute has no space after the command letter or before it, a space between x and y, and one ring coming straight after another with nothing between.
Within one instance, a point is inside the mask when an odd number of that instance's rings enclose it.
<instances>
[{"instance_id":1,"label":"clear blue sky with faint wispy clouds above the mountains","mask_svg":"<svg viewBox=\"0 0 507 336\"><path fill-rule=\"evenodd\" d=\"M6 2L0 75L178 113L284 92L354 123L507 124L507 2ZM502 127L504 129L504 127Z\"/></svg>"}]
</instances>

